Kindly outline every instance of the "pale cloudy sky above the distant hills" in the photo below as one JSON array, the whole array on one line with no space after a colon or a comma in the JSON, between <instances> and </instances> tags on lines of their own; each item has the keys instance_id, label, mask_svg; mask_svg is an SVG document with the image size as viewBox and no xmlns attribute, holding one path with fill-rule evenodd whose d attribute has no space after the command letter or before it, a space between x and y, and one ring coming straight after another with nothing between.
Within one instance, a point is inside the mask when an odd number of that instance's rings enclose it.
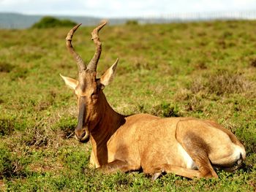
<instances>
[{"instance_id":1,"label":"pale cloudy sky above the distant hills","mask_svg":"<svg viewBox=\"0 0 256 192\"><path fill-rule=\"evenodd\" d=\"M99 18L256 11L256 0L0 0L0 12Z\"/></svg>"}]
</instances>

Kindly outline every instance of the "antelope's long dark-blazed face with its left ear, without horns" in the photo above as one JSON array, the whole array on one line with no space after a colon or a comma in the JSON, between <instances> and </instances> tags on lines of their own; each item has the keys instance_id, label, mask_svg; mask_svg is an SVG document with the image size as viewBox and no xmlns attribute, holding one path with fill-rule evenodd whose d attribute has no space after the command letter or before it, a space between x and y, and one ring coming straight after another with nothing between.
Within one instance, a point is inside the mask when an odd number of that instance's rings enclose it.
<instances>
[{"instance_id":1,"label":"antelope's long dark-blazed face with its left ear, without horns","mask_svg":"<svg viewBox=\"0 0 256 192\"><path fill-rule=\"evenodd\" d=\"M96 79L96 72L89 70L80 74L79 80L61 77L75 91L78 98L78 126L75 128L75 138L80 142L88 142L90 131L97 125L102 113L100 99L104 94L104 85L100 79Z\"/></svg>"}]
</instances>

